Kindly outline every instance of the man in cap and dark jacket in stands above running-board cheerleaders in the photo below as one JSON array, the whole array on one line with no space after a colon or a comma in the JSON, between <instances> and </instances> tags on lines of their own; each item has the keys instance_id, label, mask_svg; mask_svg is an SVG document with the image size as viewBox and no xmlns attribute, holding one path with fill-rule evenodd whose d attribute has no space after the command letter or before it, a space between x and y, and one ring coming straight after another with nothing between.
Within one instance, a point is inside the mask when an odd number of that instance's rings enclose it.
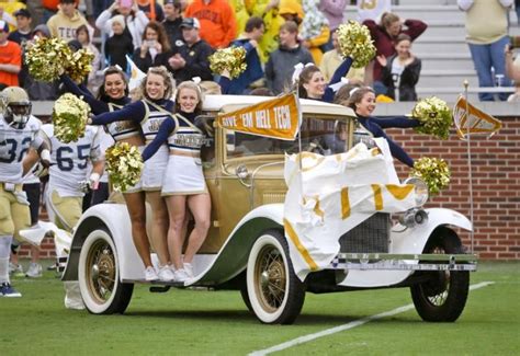
<instances>
[{"instance_id":1,"label":"man in cap and dark jacket in stands above running-board cheerleaders","mask_svg":"<svg viewBox=\"0 0 520 356\"><path fill-rule=\"evenodd\" d=\"M213 48L201 38L201 24L195 18L184 18L181 23L183 42L174 45L168 59L168 70L173 73L177 83L200 77L201 80L213 80L210 69L210 57Z\"/></svg>"}]
</instances>

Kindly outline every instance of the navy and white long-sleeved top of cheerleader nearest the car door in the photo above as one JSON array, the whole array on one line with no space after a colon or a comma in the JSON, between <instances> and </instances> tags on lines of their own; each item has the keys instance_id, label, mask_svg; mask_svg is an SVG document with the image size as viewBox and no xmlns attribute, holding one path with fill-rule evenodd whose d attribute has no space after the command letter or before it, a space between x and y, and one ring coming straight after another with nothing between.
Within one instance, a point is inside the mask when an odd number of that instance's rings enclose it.
<instances>
[{"instance_id":1,"label":"navy and white long-sleeved top of cheerleader nearest the car door","mask_svg":"<svg viewBox=\"0 0 520 356\"><path fill-rule=\"evenodd\" d=\"M200 154L204 134L194 125L195 116L195 113L179 112L171 119L165 120L154 141L143 151L143 160L152 157L165 142L168 142L170 151Z\"/></svg>"}]
</instances>

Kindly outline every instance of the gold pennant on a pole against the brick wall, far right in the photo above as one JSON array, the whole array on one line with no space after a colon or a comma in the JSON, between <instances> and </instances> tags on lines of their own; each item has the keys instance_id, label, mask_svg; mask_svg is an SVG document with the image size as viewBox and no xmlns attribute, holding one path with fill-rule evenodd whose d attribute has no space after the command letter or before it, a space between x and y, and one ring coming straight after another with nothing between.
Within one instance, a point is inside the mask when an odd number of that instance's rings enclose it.
<instances>
[{"instance_id":1,"label":"gold pennant on a pole against the brick wall, far right","mask_svg":"<svg viewBox=\"0 0 520 356\"><path fill-rule=\"evenodd\" d=\"M502 127L502 123L499 119L476 108L466 102L464 96L459 96L453 107L453 120L455 122L456 135L460 139L465 139L467 135L476 134L484 134L490 137Z\"/></svg>"}]
</instances>

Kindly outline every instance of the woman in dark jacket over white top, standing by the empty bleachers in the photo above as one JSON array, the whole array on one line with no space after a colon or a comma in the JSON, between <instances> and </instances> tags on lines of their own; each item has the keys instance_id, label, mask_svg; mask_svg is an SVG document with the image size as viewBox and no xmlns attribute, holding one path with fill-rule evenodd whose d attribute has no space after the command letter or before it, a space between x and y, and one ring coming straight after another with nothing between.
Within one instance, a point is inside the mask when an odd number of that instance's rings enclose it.
<instances>
[{"instance_id":1,"label":"woman in dark jacket over white top, standing by the empty bleachers","mask_svg":"<svg viewBox=\"0 0 520 356\"><path fill-rule=\"evenodd\" d=\"M397 90L400 102L414 102L417 100L416 84L419 81L421 61L410 51L411 38L400 34L395 41L397 54L388 59L377 56L377 61L383 67L383 84L388 88L386 95L397 100Z\"/></svg>"}]
</instances>

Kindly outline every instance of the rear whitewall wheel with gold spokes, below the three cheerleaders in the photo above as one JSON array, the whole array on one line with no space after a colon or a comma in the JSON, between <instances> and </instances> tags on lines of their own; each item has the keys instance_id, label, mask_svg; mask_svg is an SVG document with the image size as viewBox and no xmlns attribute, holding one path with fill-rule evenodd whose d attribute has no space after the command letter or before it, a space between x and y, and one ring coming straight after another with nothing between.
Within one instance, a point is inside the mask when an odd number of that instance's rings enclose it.
<instances>
[{"instance_id":1,"label":"rear whitewall wheel with gold spokes, below the three cheerleaders","mask_svg":"<svg viewBox=\"0 0 520 356\"><path fill-rule=\"evenodd\" d=\"M93 314L123 313L134 285L120 282L120 265L112 237L99 229L89 233L79 255L81 297Z\"/></svg>"}]
</instances>

